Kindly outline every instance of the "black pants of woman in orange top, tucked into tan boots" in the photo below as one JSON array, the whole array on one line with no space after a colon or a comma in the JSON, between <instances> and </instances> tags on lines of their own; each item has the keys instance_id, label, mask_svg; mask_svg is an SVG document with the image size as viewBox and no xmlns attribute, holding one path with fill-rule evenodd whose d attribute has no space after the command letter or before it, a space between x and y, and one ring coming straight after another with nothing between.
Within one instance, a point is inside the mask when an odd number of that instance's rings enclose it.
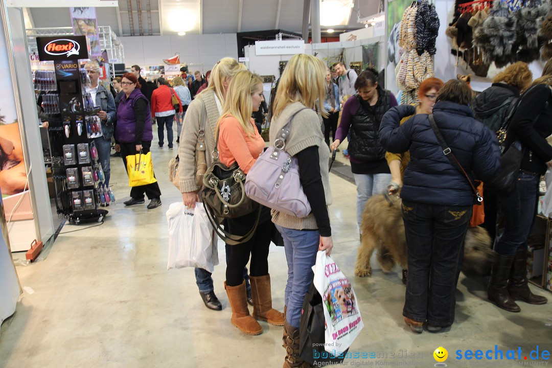
<instances>
[{"instance_id":1,"label":"black pants of woman in orange top, tucked into tan boots","mask_svg":"<svg viewBox=\"0 0 552 368\"><path fill-rule=\"evenodd\" d=\"M245 235L247 234L257 218L257 211L251 214L230 218L228 227L231 234ZM243 282L243 269L249 261L251 276L264 276L268 274L268 248L270 246L270 238L274 224L270 220L265 220L259 223L253 237L242 244L232 246L230 252L230 260L226 264L226 285L238 286Z\"/></svg>"}]
</instances>

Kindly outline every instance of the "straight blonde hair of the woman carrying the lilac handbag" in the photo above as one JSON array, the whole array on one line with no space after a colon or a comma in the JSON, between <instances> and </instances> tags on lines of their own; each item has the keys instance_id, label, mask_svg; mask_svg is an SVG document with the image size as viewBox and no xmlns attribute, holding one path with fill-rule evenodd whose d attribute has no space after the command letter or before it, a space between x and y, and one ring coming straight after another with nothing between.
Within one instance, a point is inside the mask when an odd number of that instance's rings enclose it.
<instances>
[{"instance_id":1,"label":"straight blonde hair of the woman carrying the lilac handbag","mask_svg":"<svg viewBox=\"0 0 552 368\"><path fill-rule=\"evenodd\" d=\"M325 96L326 65L312 55L294 55L285 66L278 84L274 116L280 115L286 106L295 102L307 108L316 107L322 115L327 115L322 103Z\"/></svg>"}]
</instances>

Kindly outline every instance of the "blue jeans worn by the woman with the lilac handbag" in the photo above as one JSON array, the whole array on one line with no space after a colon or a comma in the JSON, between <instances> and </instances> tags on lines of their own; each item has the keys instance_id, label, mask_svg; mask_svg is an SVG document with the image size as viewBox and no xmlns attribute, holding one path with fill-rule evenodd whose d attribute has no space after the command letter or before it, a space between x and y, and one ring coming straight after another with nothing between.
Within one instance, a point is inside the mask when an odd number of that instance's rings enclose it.
<instances>
[{"instance_id":1,"label":"blue jeans worn by the woman with the lilac handbag","mask_svg":"<svg viewBox=\"0 0 552 368\"><path fill-rule=\"evenodd\" d=\"M293 230L276 225L284 238L285 259L288 262L288 283L285 285L286 321L299 328L301 309L312 282L312 266L320 243L320 232Z\"/></svg>"}]
</instances>

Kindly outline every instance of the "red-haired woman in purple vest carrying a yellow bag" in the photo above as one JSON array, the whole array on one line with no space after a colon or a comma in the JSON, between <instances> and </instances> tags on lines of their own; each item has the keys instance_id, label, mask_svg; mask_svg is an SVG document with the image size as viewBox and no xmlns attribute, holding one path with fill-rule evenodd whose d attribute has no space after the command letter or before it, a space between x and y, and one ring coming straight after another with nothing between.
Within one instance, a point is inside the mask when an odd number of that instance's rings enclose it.
<instances>
[{"instance_id":1,"label":"red-haired woman in purple vest carrying a yellow bag","mask_svg":"<svg viewBox=\"0 0 552 368\"><path fill-rule=\"evenodd\" d=\"M124 96L117 109L116 137L121 148L121 157L126 168L126 156L137 152L150 152L153 134L151 130L150 103L140 92L140 83L132 73L126 73L121 80ZM134 186L125 206L144 203L144 193L150 199L148 209L161 206L161 190L156 183Z\"/></svg>"}]
</instances>

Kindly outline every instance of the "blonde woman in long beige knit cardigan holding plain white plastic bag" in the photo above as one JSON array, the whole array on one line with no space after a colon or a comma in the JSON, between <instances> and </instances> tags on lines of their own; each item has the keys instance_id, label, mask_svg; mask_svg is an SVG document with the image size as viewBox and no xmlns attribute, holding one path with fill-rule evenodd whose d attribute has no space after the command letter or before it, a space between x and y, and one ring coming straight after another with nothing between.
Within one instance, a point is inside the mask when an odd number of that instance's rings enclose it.
<instances>
[{"instance_id":1,"label":"blonde woman in long beige knit cardigan holding plain white plastic bag","mask_svg":"<svg viewBox=\"0 0 552 368\"><path fill-rule=\"evenodd\" d=\"M209 87L188 106L182 125L182 140L178 148L180 168L180 190L184 205L190 208L195 207L199 201L198 190L200 187L195 180L195 146L200 138L205 142L205 160L207 166L213 163L211 152L215 148L215 129L222 113L222 106L226 97L226 90L238 72L247 70L245 65L238 63L236 59L224 57L216 63L211 73ZM216 244L217 239L214 237ZM216 297L213 286L213 278L207 270L195 269L195 282L199 288L201 299L205 306L211 310L221 311L222 305Z\"/></svg>"}]
</instances>

